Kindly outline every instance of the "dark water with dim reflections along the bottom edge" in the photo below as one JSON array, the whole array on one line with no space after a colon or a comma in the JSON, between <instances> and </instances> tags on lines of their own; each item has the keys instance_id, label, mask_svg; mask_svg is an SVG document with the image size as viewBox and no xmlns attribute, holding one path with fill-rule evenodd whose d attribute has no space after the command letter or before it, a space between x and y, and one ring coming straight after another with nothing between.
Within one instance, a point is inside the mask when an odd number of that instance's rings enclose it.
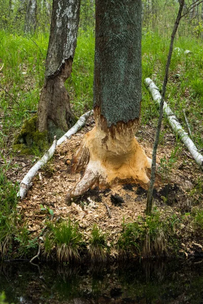
<instances>
[{"instance_id":1,"label":"dark water with dim reflections along the bottom edge","mask_svg":"<svg viewBox=\"0 0 203 304\"><path fill-rule=\"evenodd\" d=\"M0 267L0 291L9 303L203 304L202 260Z\"/></svg>"}]
</instances>

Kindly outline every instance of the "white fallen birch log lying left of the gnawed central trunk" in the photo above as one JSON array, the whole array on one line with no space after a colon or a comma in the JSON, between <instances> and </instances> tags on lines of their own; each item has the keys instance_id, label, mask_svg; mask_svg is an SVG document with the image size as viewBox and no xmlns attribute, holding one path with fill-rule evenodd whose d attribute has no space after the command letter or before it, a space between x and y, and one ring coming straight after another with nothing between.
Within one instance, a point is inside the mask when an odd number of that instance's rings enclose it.
<instances>
[{"instance_id":1,"label":"white fallen birch log lying left of the gnawed central trunk","mask_svg":"<svg viewBox=\"0 0 203 304\"><path fill-rule=\"evenodd\" d=\"M69 138L71 135L75 134L81 127L84 126L87 118L93 114L93 110L86 112L83 114L77 123L69 130L67 131L59 140L56 140L54 137L54 141L49 148L48 151L45 152L44 156L33 166L27 174L24 176L23 180L20 183L20 189L17 194L18 197L21 199L24 199L28 189L32 186L31 180L36 175L38 170L40 170L54 155L54 151L56 149L56 146L61 144L65 139Z\"/></svg>"}]
</instances>

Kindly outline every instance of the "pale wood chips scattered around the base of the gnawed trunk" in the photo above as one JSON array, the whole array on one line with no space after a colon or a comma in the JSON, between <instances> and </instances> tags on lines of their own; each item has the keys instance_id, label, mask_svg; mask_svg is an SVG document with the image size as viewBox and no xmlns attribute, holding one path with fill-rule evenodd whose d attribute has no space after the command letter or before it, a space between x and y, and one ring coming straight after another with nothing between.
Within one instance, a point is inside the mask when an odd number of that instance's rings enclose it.
<instances>
[{"instance_id":1,"label":"pale wood chips scattered around the base of the gnawed trunk","mask_svg":"<svg viewBox=\"0 0 203 304\"><path fill-rule=\"evenodd\" d=\"M93 118L89 118L86 126L77 134L56 148L53 159L33 179L33 186L27 197L18 203L18 212L21 214L23 224L26 224L33 237L39 236L50 214L42 210L42 205L54 212L54 218L61 217L65 220L71 218L79 223L79 229L86 240L91 235L94 223L107 234L108 244L116 244L122 230L123 221L132 222L138 216L144 216L146 208L146 191L136 184L115 185L110 189L89 189L82 197L69 204L65 197L81 178L81 174L71 172L71 160L83 139L83 136L94 126ZM142 126L138 133L138 140L146 151L148 157L152 156L155 130L151 126ZM164 145L158 148L157 162L161 158L170 159L175 146L173 134L164 135ZM96 148L96 147L95 147ZM167 169L167 168L166 168ZM170 176L159 180L159 187L154 192L154 204L165 213L179 213L180 208L187 210L195 201L195 196L188 196L188 191L195 185L197 177L202 179L202 172L195 162L184 154L184 147L178 155ZM170 186L166 186L170 184ZM176 185L174 185L176 184ZM164 192L164 187L166 191ZM171 195L170 204L163 197ZM162 192L161 192L162 191ZM124 202L115 204L111 199L112 194L117 194ZM107 204L112 217L109 217ZM185 204L185 205L184 205ZM185 207L184 207L185 206ZM188 207L188 208L189 208Z\"/></svg>"}]
</instances>

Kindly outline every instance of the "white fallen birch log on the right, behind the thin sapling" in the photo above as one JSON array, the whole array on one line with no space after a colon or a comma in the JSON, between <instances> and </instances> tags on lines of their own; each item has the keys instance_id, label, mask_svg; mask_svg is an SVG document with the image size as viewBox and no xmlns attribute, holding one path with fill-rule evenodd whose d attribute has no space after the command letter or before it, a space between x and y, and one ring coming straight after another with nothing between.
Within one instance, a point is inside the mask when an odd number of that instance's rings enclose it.
<instances>
[{"instance_id":1,"label":"white fallen birch log on the right, behind the thin sapling","mask_svg":"<svg viewBox=\"0 0 203 304\"><path fill-rule=\"evenodd\" d=\"M150 93L152 94L153 100L160 104L161 100L161 94L159 93L159 90L157 86L153 83L153 81L150 78L145 79L145 84L147 88L149 89ZM185 130L182 128L181 124L178 122L178 119L176 118L175 114L171 110L171 108L167 105L167 103L164 101L163 105L163 111L165 115L167 116L167 119L172 127L172 129L178 133L180 136L182 142L185 144L185 146L190 151L191 156L195 160L195 162L200 166L200 168L203 170L203 156L199 153L197 147L193 143L193 141L188 136L188 133L185 132Z\"/></svg>"}]
</instances>

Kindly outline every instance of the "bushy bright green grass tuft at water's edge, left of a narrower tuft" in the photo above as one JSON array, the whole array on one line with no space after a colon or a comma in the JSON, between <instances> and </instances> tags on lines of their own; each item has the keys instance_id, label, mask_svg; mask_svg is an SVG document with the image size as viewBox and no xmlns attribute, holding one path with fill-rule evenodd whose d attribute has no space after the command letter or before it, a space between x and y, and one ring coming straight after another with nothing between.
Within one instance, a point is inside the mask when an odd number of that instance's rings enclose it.
<instances>
[{"instance_id":1,"label":"bushy bright green grass tuft at water's edge, left of a narrower tuft","mask_svg":"<svg viewBox=\"0 0 203 304\"><path fill-rule=\"evenodd\" d=\"M64 221L51 226L53 232L54 243L57 244L57 257L61 262L70 259L79 259L79 250L82 245L81 234L78 231L78 224L73 224L69 218L68 223Z\"/></svg>"}]
</instances>

